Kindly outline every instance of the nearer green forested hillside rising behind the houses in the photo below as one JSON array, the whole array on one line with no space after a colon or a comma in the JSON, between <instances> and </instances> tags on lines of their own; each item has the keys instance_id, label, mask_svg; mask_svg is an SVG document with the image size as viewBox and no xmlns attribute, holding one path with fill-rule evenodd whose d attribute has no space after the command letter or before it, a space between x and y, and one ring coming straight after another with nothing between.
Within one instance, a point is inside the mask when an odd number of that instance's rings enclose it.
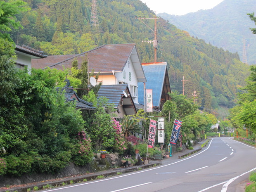
<instances>
[{"instance_id":1,"label":"nearer green forested hillside rising behind the houses","mask_svg":"<svg viewBox=\"0 0 256 192\"><path fill-rule=\"evenodd\" d=\"M154 18L140 0L97 0L100 32L90 24L92 0L26 0L31 10L17 16L24 28L11 35L17 45L28 45L48 55L85 52L103 44L136 43L141 62L154 62L154 33L135 16ZM154 29L154 20L144 20ZM237 53L192 38L164 19L157 21L157 62L167 62L172 90L192 97L202 109L223 117L233 107L249 66ZM224 110L222 110L224 109ZM223 111L223 112L222 112Z\"/></svg>"}]
</instances>

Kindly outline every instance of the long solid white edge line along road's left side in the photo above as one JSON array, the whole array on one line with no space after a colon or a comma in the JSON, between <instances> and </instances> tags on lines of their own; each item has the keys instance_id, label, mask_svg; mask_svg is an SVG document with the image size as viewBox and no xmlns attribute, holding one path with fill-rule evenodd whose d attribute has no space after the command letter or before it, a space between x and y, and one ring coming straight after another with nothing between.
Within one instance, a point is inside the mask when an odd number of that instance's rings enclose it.
<instances>
[{"instance_id":1,"label":"long solid white edge line along road's left side","mask_svg":"<svg viewBox=\"0 0 256 192\"><path fill-rule=\"evenodd\" d=\"M214 139L214 138L211 139L211 142L213 141L213 139ZM193 155L193 156L187 157L187 158L182 159L182 160L180 160L180 161L176 161L176 162L171 163L171 164L167 164L167 165L163 165L163 166L158 166L158 167L151 168L151 169L147 169L147 170L143 170L143 171L138 171L138 172L130 173L130 174L127 174L127 175L119 175L119 176L114 177L114 178L106 178L106 179L102 179L102 180L92 181L92 182L90 182L90 183L98 183L98 182L102 182L102 181L106 181L106 180L112 180L112 179L116 179L116 178L127 177L127 176L130 176L130 175L135 175L135 174L139 174L139 173L151 171L151 170L154 170L154 169L166 167L166 166L169 166L169 165L177 164L177 163L179 163L179 162L181 162L181 161L185 161L185 160L187 160L187 159L193 158L194 156L197 156L197 155L199 155L199 154L205 152L207 149L210 148L211 142L209 143L209 146L208 146L206 149L204 149L204 151L201 151L201 152L199 152L199 153L197 153L197 154L195 154L195 155ZM88 185L88 184L90 184L90 183L82 183L82 184L78 184L78 185L71 185L71 186L68 186L68 187L61 187L61 188L58 188L58 189L47 190L47 191L42 191L42 192L57 191L57 190L62 190L62 189L71 188L71 187L77 187L77 186L81 186L81 185Z\"/></svg>"}]
</instances>

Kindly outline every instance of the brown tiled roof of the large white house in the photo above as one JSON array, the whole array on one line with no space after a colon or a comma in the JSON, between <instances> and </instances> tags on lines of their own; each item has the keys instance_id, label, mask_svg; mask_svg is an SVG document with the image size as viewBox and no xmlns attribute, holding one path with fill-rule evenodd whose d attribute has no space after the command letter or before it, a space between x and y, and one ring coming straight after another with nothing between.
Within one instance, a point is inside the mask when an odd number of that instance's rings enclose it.
<instances>
[{"instance_id":1,"label":"brown tiled roof of the large white house","mask_svg":"<svg viewBox=\"0 0 256 192\"><path fill-rule=\"evenodd\" d=\"M94 72L115 72L123 71L128 58L130 57L134 43L130 44L114 44L114 45L102 45L93 50L83 52L79 55L70 55L71 57L60 56L48 56L46 59L32 59L33 68L43 69L45 66L55 69L70 68L73 59L78 60L78 69L81 68L81 62L88 58L89 71ZM136 50L137 51L137 50Z\"/></svg>"}]
</instances>

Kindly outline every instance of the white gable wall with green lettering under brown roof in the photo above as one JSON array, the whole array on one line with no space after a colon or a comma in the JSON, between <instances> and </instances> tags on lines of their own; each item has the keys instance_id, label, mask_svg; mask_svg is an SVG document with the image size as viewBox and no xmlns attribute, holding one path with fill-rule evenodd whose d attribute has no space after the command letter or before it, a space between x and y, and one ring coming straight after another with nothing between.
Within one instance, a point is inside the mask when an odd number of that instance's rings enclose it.
<instances>
[{"instance_id":1,"label":"white gable wall with green lettering under brown roof","mask_svg":"<svg viewBox=\"0 0 256 192\"><path fill-rule=\"evenodd\" d=\"M128 62L130 62L129 66L128 66ZM133 62L131 61L130 58L126 62L126 66L124 67L123 72L115 73L115 76L116 76L117 84L119 84L119 82L127 83L129 90L130 90L130 85L135 85L136 87L138 86L137 75L133 67ZM133 97L133 102L138 103L138 97Z\"/></svg>"}]
</instances>

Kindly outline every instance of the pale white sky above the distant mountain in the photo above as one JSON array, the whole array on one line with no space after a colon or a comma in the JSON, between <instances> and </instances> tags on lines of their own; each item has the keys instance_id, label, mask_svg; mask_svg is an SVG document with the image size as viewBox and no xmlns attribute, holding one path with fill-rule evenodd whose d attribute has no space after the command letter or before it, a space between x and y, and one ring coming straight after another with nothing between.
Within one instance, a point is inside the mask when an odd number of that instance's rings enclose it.
<instances>
[{"instance_id":1,"label":"pale white sky above the distant mountain","mask_svg":"<svg viewBox=\"0 0 256 192\"><path fill-rule=\"evenodd\" d=\"M197 12L200 9L211 9L223 0L141 0L156 12L173 15L184 15L190 12Z\"/></svg>"}]
</instances>

